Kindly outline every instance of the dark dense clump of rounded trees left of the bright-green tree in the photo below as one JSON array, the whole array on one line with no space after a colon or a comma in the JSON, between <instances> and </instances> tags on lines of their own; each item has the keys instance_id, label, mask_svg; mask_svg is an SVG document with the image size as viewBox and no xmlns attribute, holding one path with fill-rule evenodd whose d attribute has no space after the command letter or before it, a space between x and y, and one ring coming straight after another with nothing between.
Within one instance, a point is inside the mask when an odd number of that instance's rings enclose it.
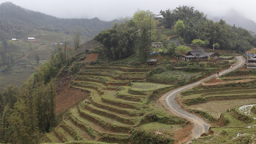
<instances>
[{"instance_id":1,"label":"dark dense clump of rounded trees left of the bright-green tree","mask_svg":"<svg viewBox=\"0 0 256 144\"><path fill-rule=\"evenodd\" d=\"M113 59L126 58L135 52L138 29L134 21L130 20L125 24L101 31L95 40L103 44L103 52L100 55L111 57Z\"/></svg>"}]
</instances>

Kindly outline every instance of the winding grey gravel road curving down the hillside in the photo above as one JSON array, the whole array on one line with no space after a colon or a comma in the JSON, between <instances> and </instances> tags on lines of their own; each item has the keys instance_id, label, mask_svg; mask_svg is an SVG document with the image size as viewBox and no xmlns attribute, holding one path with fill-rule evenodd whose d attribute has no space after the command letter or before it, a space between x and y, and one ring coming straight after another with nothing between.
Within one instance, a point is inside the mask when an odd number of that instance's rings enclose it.
<instances>
[{"instance_id":1,"label":"winding grey gravel road curving down the hillside","mask_svg":"<svg viewBox=\"0 0 256 144\"><path fill-rule=\"evenodd\" d=\"M237 56L236 57L236 64L234 64L233 68L235 69L236 67L244 64L244 58L242 56ZM226 69L224 71L221 71L219 74L222 75L223 73L229 71L230 69ZM217 74L215 75L212 75L212 76L217 76ZM212 76L209 76L209 77L212 77ZM209 78L207 77L207 78ZM205 79L207 79L205 78ZM204 80L204 79L203 79ZM202 81L202 80L201 80ZM210 124L209 122L205 121L204 119L202 119L201 117L198 117L192 113L189 113L187 112L186 110L182 109L180 107L180 105L176 102L176 98L177 98L177 95L180 93L180 92L183 92L187 89L190 89L198 84L201 83L201 81L198 81L198 82L195 82L193 84L188 84L188 85L185 85L183 87L180 87L172 92L169 92L164 96L164 104L166 105L167 108L170 108L170 110L175 113L177 116L181 116L183 118L186 118L188 119L190 122L192 122L194 124L194 127L192 129L192 136L191 136L191 139L193 138L198 138L200 137L200 135L204 132L208 132L209 130L209 127L210 127ZM192 142L191 140L190 141L187 141L186 143L190 143Z\"/></svg>"}]
</instances>

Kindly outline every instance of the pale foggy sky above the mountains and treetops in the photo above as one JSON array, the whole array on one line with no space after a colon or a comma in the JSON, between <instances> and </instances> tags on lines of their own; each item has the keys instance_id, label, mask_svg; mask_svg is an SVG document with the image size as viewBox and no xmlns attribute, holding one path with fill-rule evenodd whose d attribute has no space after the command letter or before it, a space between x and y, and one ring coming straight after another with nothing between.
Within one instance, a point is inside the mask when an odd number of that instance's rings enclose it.
<instances>
[{"instance_id":1,"label":"pale foggy sky above the mountains and treetops","mask_svg":"<svg viewBox=\"0 0 256 144\"><path fill-rule=\"evenodd\" d=\"M121 16L132 16L139 8L159 13L160 10L173 10L179 5L195 7L194 10L204 12L204 15L222 16L231 8L240 15L256 21L255 0L41 0L21 1L8 0L29 10L42 12L58 18L98 17L100 20L110 21ZM6 0L0 0L0 3Z\"/></svg>"}]
</instances>

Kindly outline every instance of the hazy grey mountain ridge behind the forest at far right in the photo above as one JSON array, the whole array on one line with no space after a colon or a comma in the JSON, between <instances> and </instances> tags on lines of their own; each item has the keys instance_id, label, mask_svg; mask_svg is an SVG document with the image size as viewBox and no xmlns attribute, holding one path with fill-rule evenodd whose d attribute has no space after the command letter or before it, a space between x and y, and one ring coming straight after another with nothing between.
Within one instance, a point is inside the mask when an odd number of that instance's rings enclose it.
<instances>
[{"instance_id":1,"label":"hazy grey mountain ridge behind the forest at far right","mask_svg":"<svg viewBox=\"0 0 256 144\"><path fill-rule=\"evenodd\" d=\"M216 17L207 15L207 19L213 20L214 22L220 21L220 19L222 19L231 26L235 24L236 27L242 27L252 32L256 32L256 22L241 16L240 13L234 9L230 9L224 16Z\"/></svg>"}]
</instances>

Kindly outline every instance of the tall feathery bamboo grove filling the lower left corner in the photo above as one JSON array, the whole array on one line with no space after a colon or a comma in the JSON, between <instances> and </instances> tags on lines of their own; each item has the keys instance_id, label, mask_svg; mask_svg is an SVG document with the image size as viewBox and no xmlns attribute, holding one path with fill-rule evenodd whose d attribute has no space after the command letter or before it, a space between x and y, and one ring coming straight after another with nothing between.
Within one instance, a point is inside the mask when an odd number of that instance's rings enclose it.
<instances>
[{"instance_id":1,"label":"tall feathery bamboo grove filling the lower left corner","mask_svg":"<svg viewBox=\"0 0 256 144\"><path fill-rule=\"evenodd\" d=\"M37 71L46 72L49 65ZM41 77L34 73L21 89L11 85L0 89L0 143L39 143L42 134L55 126L55 80L45 83Z\"/></svg>"}]
</instances>

